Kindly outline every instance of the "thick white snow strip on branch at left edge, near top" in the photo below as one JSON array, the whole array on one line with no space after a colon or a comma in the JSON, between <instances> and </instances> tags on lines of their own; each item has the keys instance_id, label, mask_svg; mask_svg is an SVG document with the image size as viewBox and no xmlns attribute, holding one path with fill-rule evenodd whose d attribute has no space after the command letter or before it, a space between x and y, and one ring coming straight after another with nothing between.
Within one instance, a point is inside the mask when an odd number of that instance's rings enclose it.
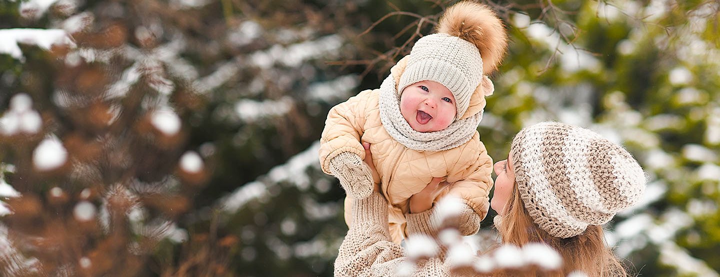
<instances>
[{"instance_id":1,"label":"thick white snow strip on branch at left edge, near top","mask_svg":"<svg viewBox=\"0 0 720 277\"><path fill-rule=\"evenodd\" d=\"M0 29L0 54L8 54L24 62L18 43L37 45L44 50L49 50L53 45L76 47L64 29Z\"/></svg>"}]
</instances>

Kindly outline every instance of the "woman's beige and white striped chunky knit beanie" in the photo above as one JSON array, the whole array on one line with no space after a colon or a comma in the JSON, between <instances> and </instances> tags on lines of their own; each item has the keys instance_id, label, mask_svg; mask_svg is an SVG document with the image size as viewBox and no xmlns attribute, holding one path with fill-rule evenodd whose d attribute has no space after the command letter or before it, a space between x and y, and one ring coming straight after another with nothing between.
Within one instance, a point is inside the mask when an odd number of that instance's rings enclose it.
<instances>
[{"instance_id":1,"label":"woman's beige and white striped chunky knit beanie","mask_svg":"<svg viewBox=\"0 0 720 277\"><path fill-rule=\"evenodd\" d=\"M645 175L620 145L595 132L557 122L526 127L510 158L523 204L554 237L580 235L641 199Z\"/></svg>"}]
</instances>

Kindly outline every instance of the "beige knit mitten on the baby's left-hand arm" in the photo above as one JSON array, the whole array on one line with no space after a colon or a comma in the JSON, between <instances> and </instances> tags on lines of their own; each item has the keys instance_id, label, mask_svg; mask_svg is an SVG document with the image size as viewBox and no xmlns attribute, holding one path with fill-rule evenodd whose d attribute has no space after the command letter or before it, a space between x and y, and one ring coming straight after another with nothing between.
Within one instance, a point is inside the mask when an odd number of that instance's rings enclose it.
<instances>
[{"instance_id":1,"label":"beige knit mitten on the baby's left-hand arm","mask_svg":"<svg viewBox=\"0 0 720 277\"><path fill-rule=\"evenodd\" d=\"M364 199L372 194L372 171L354 153L343 152L330 160L330 173L340 180L346 194L354 199Z\"/></svg>"}]
</instances>

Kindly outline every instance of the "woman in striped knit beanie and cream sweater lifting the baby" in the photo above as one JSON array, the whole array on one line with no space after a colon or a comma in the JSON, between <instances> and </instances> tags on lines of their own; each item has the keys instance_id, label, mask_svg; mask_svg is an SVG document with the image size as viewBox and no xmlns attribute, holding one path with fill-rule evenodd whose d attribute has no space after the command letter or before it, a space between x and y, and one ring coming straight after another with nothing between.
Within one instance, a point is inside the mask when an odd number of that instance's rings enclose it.
<instances>
[{"instance_id":1,"label":"woman in striped knit beanie and cream sweater lifting the baby","mask_svg":"<svg viewBox=\"0 0 720 277\"><path fill-rule=\"evenodd\" d=\"M590 130L542 122L518 132L508 160L496 163L495 173L490 206L498 212L495 227L504 243L551 246L563 258L552 275L626 276L601 226L639 201L644 191L644 172L623 147ZM432 220L418 219L437 214L428 199L446 187L433 181L410 199L408 232L434 235L432 226L422 224ZM336 259L336 276L393 275L407 258L400 245L387 239L387 202L374 192L356 201L353 217L356 223ZM449 271L436 257L421 260L413 275L449 276Z\"/></svg>"}]
</instances>

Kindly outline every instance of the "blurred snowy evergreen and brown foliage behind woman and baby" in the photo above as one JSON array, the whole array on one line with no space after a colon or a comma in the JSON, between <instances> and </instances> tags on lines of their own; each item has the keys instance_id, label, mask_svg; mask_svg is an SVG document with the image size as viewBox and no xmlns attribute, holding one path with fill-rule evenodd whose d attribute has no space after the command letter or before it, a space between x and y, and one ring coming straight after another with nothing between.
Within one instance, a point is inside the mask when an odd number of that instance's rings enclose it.
<instances>
[{"instance_id":1,"label":"blurred snowy evergreen and brown foliage behind woman and baby","mask_svg":"<svg viewBox=\"0 0 720 277\"><path fill-rule=\"evenodd\" d=\"M325 116L454 2L1 1L0 275L331 276ZM510 34L490 156L549 119L621 142L649 183L608 243L643 276L718 276L719 2L482 2Z\"/></svg>"}]
</instances>

